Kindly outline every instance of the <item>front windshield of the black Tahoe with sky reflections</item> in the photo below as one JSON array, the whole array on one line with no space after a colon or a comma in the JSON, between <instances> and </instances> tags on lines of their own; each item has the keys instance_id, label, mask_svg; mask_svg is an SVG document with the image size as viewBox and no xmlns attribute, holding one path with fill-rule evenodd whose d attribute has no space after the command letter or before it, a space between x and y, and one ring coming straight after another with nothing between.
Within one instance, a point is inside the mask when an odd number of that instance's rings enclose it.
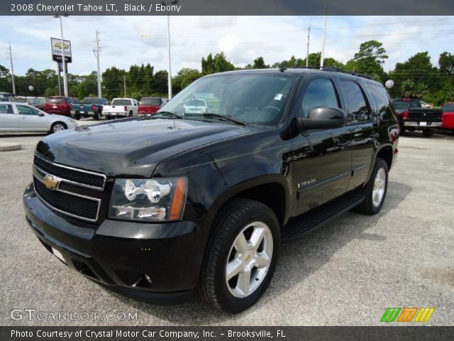
<instances>
[{"instance_id":1,"label":"front windshield of the black Tahoe with sky reflections","mask_svg":"<svg viewBox=\"0 0 454 341\"><path fill-rule=\"evenodd\" d=\"M279 124L292 85L292 77L278 73L204 77L179 92L162 110L191 119L219 114L271 126Z\"/></svg>"}]
</instances>

